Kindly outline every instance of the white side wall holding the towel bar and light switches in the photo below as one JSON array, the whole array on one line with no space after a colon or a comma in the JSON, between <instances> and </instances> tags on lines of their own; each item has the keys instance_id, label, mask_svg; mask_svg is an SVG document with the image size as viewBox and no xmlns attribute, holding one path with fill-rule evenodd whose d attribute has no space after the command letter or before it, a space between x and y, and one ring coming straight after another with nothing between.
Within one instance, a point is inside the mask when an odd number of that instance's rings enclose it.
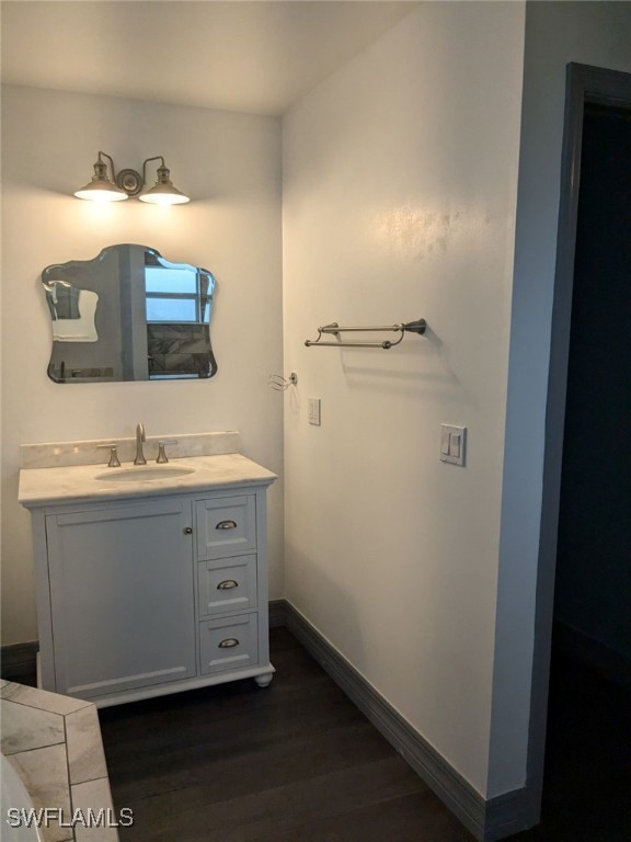
<instances>
[{"instance_id":1,"label":"white side wall holding the towel bar and light switches","mask_svg":"<svg viewBox=\"0 0 631 842\"><path fill-rule=\"evenodd\" d=\"M424 4L283 135L286 594L483 795L523 42L520 3ZM388 352L303 346L418 317ZM468 428L467 467L439 462L440 422Z\"/></svg>"}]
</instances>

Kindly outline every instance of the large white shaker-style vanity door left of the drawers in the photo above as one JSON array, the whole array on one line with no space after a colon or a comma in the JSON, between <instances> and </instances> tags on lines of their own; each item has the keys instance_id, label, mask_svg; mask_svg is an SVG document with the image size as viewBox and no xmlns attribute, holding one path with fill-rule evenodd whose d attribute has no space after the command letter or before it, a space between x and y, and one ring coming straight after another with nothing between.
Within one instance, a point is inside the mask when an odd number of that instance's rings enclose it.
<instances>
[{"instance_id":1,"label":"large white shaker-style vanity door left of the drawers","mask_svg":"<svg viewBox=\"0 0 631 842\"><path fill-rule=\"evenodd\" d=\"M168 498L46 519L58 692L195 675L191 515Z\"/></svg>"}]
</instances>

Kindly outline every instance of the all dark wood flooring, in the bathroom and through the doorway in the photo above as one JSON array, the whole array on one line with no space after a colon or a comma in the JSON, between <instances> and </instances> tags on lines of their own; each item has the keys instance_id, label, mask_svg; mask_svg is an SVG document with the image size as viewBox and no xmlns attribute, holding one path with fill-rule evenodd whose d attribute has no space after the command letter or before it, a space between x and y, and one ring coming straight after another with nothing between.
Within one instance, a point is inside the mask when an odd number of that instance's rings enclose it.
<instances>
[{"instance_id":1,"label":"all dark wood flooring, in the bathroom and through the doorway","mask_svg":"<svg viewBox=\"0 0 631 842\"><path fill-rule=\"evenodd\" d=\"M276 676L100 712L121 842L472 842L284 628ZM628 694L557 659L542 823L510 842L629 842Z\"/></svg>"}]
</instances>

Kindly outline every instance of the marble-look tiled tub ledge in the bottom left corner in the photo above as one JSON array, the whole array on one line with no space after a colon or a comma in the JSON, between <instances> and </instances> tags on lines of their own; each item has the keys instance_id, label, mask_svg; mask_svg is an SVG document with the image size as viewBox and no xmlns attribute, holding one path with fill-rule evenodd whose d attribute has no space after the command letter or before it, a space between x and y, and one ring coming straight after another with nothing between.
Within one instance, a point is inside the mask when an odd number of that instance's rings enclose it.
<instances>
[{"instance_id":1,"label":"marble-look tiled tub ledge in the bottom left corner","mask_svg":"<svg viewBox=\"0 0 631 842\"><path fill-rule=\"evenodd\" d=\"M91 702L0 682L2 753L22 780L35 809L61 809L64 824L76 810L103 809L112 820L110 781L96 707ZM115 827L74 829L51 821L43 842L117 842Z\"/></svg>"}]
</instances>

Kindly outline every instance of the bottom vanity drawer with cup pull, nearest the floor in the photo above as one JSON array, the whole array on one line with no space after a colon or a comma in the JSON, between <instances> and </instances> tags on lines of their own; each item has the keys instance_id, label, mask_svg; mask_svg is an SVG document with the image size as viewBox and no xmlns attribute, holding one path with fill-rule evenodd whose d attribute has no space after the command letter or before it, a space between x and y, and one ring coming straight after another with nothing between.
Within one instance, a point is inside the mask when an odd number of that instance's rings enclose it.
<instances>
[{"instance_id":1,"label":"bottom vanity drawer with cup pull, nearest the floor","mask_svg":"<svg viewBox=\"0 0 631 842\"><path fill-rule=\"evenodd\" d=\"M259 663L259 614L242 614L199 624L202 675L248 669Z\"/></svg>"}]
</instances>

